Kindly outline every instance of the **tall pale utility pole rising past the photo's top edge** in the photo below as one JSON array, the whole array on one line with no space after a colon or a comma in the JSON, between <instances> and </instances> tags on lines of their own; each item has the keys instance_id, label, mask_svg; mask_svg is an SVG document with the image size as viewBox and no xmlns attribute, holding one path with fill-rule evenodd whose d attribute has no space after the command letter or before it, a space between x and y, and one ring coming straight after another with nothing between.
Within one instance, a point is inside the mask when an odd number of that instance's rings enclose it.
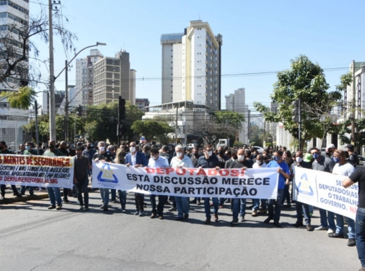
<instances>
[{"instance_id":1,"label":"tall pale utility pole rising past the photo's top edge","mask_svg":"<svg viewBox=\"0 0 365 271\"><path fill-rule=\"evenodd\" d=\"M56 116L54 102L54 59L53 59L53 24L52 24L52 1L48 0L48 23L49 23L49 128L50 140L56 140Z\"/></svg>"}]
</instances>

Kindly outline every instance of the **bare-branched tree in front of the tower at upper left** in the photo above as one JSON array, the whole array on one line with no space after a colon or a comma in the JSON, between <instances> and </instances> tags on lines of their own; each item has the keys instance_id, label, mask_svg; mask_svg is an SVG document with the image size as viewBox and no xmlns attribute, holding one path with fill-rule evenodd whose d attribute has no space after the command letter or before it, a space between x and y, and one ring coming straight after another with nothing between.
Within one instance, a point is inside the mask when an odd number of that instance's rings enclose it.
<instances>
[{"instance_id":1,"label":"bare-branched tree in front of the tower at upper left","mask_svg":"<svg viewBox=\"0 0 365 271\"><path fill-rule=\"evenodd\" d=\"M41 12L38 15L30 16L26 13L25 20L19 18L13 19L13 23L1 26L0 31L0 83L10 89L16 89L20 86L36 85L40 82L41 73L37 67L40 59L39 50L35 40L49 42L48 35L48 7L39 3ZM54 13L55 17L60 18L59 12ZM67 20L67 18L65 18ZM61 20L53 20L53 33L61 37L66 50L73 49L73 40L77 39L76 35L63 27ZM32 52L34 60L30 62L29 53ZM7 96L8 94L3 94ZM20 88L10 96L12 103L19 108L28 108L34 98L34 92L24 91ZM28 99L27 99L28 98ZM15 101L19 99L19 101ZM26 105L28 101L28 106Z\"/></svg>"}]
</instances>

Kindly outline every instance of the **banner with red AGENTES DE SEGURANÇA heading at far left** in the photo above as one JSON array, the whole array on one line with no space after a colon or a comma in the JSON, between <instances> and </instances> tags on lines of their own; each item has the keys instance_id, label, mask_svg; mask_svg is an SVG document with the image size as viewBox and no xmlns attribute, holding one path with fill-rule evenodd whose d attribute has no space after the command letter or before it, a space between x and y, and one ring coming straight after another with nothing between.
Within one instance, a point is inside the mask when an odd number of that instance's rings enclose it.
<instances>
[{"instance_id":1,"label":"banner with red AGENTES DE SEGURAN\u00c7A heading at far left","mask_svg":"<svg viewBox=\"0 0 365 271\"><path fill-rule=\"evenodd\" d=\"M0 154L0 185L72 188L73 159Z\"/></svg>"}]
</instances>

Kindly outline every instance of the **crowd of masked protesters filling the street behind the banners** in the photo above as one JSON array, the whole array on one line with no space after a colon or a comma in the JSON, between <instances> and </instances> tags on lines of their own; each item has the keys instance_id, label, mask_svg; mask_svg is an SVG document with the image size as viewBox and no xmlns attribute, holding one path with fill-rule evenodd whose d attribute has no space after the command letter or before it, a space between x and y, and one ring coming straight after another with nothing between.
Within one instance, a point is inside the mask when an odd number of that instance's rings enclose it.
<instances>
[{"instance_id":1,"label":"crowd of masked protesters filling the street behind the banners","mask_svg":"<svg viewBox=\"0 0 365 271\"><path fill-rule=\"evenodd\" d=\"M273 225L281 227L280 212L282 208L290 208L295 203L297 220L293 227L305 227L307 231L326 231L330 238L344 238L344 225L347 222L348 246L357 246L359 259L365 270L365 168L358 167L359 158L354 152L354 146L347 144L346 150L337 150L334 144L326 148L324 155L318 148L311 148L307 153L297 151L291 153L286 147L276 146L272 149L264 149L261 153L254 147L243 146L242 148L219 147L214 150L211 145L196 145L194 148L187 149L182 145L177 146L155 146L142 144L139 146L135 142L123 143L120 146L107 145L105 142L93 144L77 143L68 145L66 142L55 143L49 141L47 148L39 150L40 155L45 156L73 156L74 157L74 189L63 189L63 202L68 203L69 192L77 195L80 209L89 209L88 185L89 177L92 173L92 162L109 162L125 164L133 167L197 167L214 169L232 168L260 168L273 167L279 173L278 190L276 200L253 199L251 216L268 213L268 217L263 221L268 224L273 221ZM1 154L12 154L7 149L5 142L0 142ZM35 146L32 142L21 145L16 154L37 155ZM293 202L291 182L295 177L295 167L325 171L328 173L345 175L344 187L349 187L354 183L359 184L358 210L356 221L349 217L319 209L320 225L313 228L311 217L313 207L301 202ZM1 185L1 199L5 196L5 185ZM26 187L11 186L16 197L25 194ZM34 189L41 187L29 187L29 194L33 195ZM117 191L115 189L100 188L101 206L104 211L108 211L109 201L117 203ZM61 209L62 198L58 187L47 187L51 205L48 209ZM84 196L82 196L82 192ZM126 212L127 191L118 191L120 210ZM145 194L135 193L136 216L145 216L146 202ZM157 204L158 199L158 204ZM177 211L177 221L188 220L190 205L200 205L204 203L205 224L211 223L211 215L214 221L219 221L219 209L224 208L224 204L229 204L228 208L232 211L231 225L237 225L245 221L246 198L193 198L188 197L168 197L165 195L150 195L151 213L150 218L164 219L164 206L171 205L170 212ZM211 207L213 207L211 209ZM304 223L303 223L304 215Z\"/></svg>"}]
</instances>

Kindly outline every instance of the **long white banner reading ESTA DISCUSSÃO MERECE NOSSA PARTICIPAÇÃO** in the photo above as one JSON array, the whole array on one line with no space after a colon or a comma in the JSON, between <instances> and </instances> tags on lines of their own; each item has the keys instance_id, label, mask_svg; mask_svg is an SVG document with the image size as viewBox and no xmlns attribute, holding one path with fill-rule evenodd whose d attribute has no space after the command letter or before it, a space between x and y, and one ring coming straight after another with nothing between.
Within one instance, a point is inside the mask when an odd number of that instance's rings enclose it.
<instances>
[{"instance_id":1,"label":"long white banner reading ESTA DISCUSS\u00c3O MERECE NOSSA PARTICIPA\u00c7\u00c3O","mask_svg":"<svg viewBox=\"0 0 365 271\"><path fill-rule=\"evenodd\" d=\"M93 162L92 187L180 197L276 198L278 173L265 169L134 168Z\"/></svg>"}]
</instances>

